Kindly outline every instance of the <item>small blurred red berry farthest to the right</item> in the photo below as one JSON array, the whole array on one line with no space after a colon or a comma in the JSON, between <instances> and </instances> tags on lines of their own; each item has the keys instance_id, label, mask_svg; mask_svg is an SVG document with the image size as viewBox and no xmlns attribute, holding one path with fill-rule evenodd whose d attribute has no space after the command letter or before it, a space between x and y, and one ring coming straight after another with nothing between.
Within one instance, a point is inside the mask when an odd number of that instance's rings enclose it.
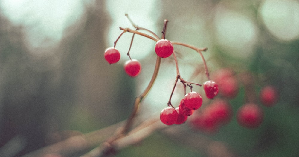
<instances>
[{"instance_id":1,"label":"small blurred red berry farthest to the right","mask_svg":"<svg viewBox=\"0 0 299 157\"><path fill-rule=\"evenodd\" d=\"M260 101L266 107L273 106L278 101L278 92L275 87L265 86L260 90Z\"/></svg>"}]
</instances>

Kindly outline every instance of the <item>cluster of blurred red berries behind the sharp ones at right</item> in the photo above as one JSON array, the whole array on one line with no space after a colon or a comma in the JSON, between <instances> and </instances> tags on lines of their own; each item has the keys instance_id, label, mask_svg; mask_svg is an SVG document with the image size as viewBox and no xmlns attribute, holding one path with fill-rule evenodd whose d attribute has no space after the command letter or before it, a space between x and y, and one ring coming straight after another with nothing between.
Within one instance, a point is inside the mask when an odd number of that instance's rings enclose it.
<instances>
[{"instance_id":1,"label":"cluster of blurred red berries behind the sharp ones at right","mask_svg":"<svg viewBox=\"0 0 299 157\"><path fill-rule=\"evenodd\" d=\"M228 100L235 98L239 91L237 77L231 69L216 71L213 79L218 83L221 99L217 98L212 101L204 109L196 112L190 120L193 128L205 133L216 133L221 126L231 121L233 110ZM266 107L273 106L278 98L278 92L272 86L265 86L260 90L260 103ZM259 127L263 122L263 117L263 108L253 102L243 104L236 113L237 122L245 128Z\"/></svg>"}]
</instances>

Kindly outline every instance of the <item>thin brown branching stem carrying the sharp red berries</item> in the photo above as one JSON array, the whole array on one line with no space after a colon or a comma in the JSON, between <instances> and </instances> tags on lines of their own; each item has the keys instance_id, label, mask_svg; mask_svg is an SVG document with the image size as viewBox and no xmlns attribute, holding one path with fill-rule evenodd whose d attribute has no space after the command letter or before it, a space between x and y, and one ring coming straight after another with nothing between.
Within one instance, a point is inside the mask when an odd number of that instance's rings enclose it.
<instances>
[{"instance_id":1,"label":"thin brown branching stem carrying the sharp red berries","mask_svg":"<svg viewBox=\"0 0 299 157\"><path fill-rule=\"evenodd\" d=\"M130 44L130 48L129 48L129 51L131 49L131 46L132 46L132 42L133 42L133 39L134 39L134 36L135 34L138 34L138 35L141 35L141 36L144 36L144 37L147 37L149 39L152 39L154 41L158 41L160 40L160 38L155 34L153 33L152 31L148 30L148 29L145 29L145 28L142 28L142 27L138 27L136 26L132 20L129 18L129 16L126 14L127 18L129 19L129 21L131 22L131 24L136 28L136 30L132 30L130 28L122 28L122 27L119 27L120 30L123 30L123 32L118 36L118 38L116 39L116 41L114 42L114 47L116 46L116 43L117 41L120 39L120 37L123 35L123 33L125 32L130 32L130 33L133 33L133 36L132 36L132 39L131 39L131 44ZM163 30L162 30L162 39L165 39L165 35L166 35L166 30L167 30L167 19L164 20L164 27L163 27ZM141 33L139 32L138 30L145 30L145 31L148 31L149 33L151 33L153 36L150 36L146 33ZM201 51L206 51L207 48L196 48L196 47L193 47L191 45L188 45L188 44L184 44L184 43L179 43L179 42L173 42L173 44L176 44L176 45L182 45L182 46L185 46L185 47L189 47L193 50L196 50L203 62L204 62L204 65L205 65L205 73L206 73L206 76L208 77L208 79L210 80L210 77L209 77L209 73L208 73L208 68L207 68L207 65L206 65L206 62L205 62L205 59L201 53ZM127 55L129 56L129 58L131 59L130 55L129 55L129 51L127 53ZM180 73L179 73L179 67L178 67L178 61L177 61L177 58L176 58L176 55L175 53L173 53L173 56L174 56L174 59L175 59L175 63L176 63L176 70L177 70L177 77L176 77L176 82L175 82L175 85L173 87L173 91L176 87L176 84L177 84L177 81L180 79L180 81L182 82L182 84L184 85L184 87L186 86L189 86L190 87L190 90L192 91L192 85L191 84L196 84L196 83L190 83L190 82L187 82L185 81L183 78L181 78L180 76ZM149 92L149 90L151 89L152 85L154 84L154 81L158 75L158 72L159 72L159 68L160 68L160 64L161 64L161 57L157 56L157 59L156 59L156 63L155 63L155 69L154 69L154 72L153 72L153 75L152 75L152 78L149 82L149 84L147 85L146 89L138 96L135 98L135 101L134 101L134 106L133 106L133 110L132 110L132 113L130 115L130 117L127 119L126 121L126 124L123 126L123 127L120 127L120 129L115 133L114 136L112 136L111 138L107 139L106 142L104 142L103 144L101 144L98 148L102 148L100 149L101 150L101 155L100 156L105 156L107 154L111 154L113 152L115 152L114 150L114 147L111 145L112 143L114 143L115 141L121 139L121 138L124 138L126 136L128 136L128 133L130 133L132 130L131 130L131 127L132 127L132 124L133 124L133 120L136 116L136 113L138 111L138 108L139 108L139 105L140 105L140 102L142 101L142 99L147 95L147 93ZM196 84L196 85L200 85L200 84ZM201 85L200 85L201 86ZM168 105L169 106L172 106L171 105L171 97L173 95L173 91L171 93L171 96L170 96L170 99L169 99L169 102L168 102ZM186 93L186 88L185 88L185 93ZM172 106L173 107L173 106ZM136 129L136 128L135 128ZM134 129L134 130L135 130ZM95 151L99 150L99 149L95 149ZM91 152L92 153L92 152Z\"/></svg>"}]
</instances>

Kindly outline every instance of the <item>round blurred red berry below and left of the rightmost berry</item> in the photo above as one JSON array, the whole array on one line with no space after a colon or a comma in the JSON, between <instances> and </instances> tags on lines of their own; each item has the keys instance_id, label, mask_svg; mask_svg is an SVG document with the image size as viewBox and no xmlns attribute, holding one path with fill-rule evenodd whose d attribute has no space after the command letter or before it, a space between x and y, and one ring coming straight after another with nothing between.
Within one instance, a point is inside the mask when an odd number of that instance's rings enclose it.
<instances>
[{"instance_id":1,"label":"round blurred red berry below and left of the rightmost berry","mask_svg":"<svg viewBox=\"0 0 299 157\"><path fill-rule=\"evenodd\" d=\"M237 111L237 121L245 128L256 128L263 122L263 110L253 103L244 104Z\"/></svg>"}]
</instances>

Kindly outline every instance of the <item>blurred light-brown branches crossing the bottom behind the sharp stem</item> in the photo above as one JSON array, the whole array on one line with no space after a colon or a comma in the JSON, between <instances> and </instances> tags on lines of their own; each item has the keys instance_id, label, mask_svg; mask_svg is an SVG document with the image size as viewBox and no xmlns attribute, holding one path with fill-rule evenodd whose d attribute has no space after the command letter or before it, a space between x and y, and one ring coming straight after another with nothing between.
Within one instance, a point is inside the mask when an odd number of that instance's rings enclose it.
<instances>
[{"instance_id":1,"label":"blurred light-brown branches crossing the bottom behind the sharp stem","mask_svg":"<svg viewBox=\"0 0 299 157\"><path fill-rule=\"evenodd\" d=\"M185 124L180 126L167 126L159 120L157 115L152 116L139 124L135 129L131 130L125 136L122 136L115 141L105 142L106 137L113 136L115 130L118 130L123 125L123 122L111 125L109 127L87 133L85 135L73 136L64 141L58 142L51 146L47 146L29 153L23 157L40 157L45 154L60 154L62 156L74 156L88 151L90 148L101 144L89 153L81 157L109 157L117 153L119 150L130 145L139 143L155 131L161 131L170 140L176 143L187 146L198 153L205 153L208 157L236 157L233 151L221 141L213 141L207 136L199 133L191 132ZM117 132L117 131L116 131Z\"/></svg>"}]
</instances>

